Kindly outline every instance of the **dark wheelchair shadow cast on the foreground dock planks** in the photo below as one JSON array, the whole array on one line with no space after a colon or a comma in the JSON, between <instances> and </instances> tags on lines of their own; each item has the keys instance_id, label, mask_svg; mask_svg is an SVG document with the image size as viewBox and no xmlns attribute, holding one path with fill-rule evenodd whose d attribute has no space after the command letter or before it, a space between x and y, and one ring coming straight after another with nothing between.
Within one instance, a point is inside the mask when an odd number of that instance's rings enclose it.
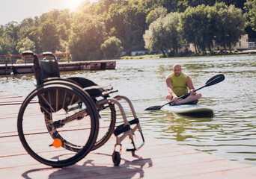
<instances>
[{"instance_id":1,"label":"dark wheelchair shadow cast on the foreground dock planks","mask_svg":"<svg viewBox=\"0 0 256 179\"><path fill-rule=\"evenodd\" d=\"M112 156L109 154L97 154L109 156L109 160L112 160ZM61 169L52 167L31 169L24 172L22 177L25 179L34 178L32 176L45 176L45 178L123 178L125 175L125 178L144 178L144 169L153 166L152 160L137 155L133 157L136 159L131 161L122 158L120 166L109 166L109 163L104 166L95 163L94 160L86 160L82 165L75 164Z\"/></svg>"}]
</instances>

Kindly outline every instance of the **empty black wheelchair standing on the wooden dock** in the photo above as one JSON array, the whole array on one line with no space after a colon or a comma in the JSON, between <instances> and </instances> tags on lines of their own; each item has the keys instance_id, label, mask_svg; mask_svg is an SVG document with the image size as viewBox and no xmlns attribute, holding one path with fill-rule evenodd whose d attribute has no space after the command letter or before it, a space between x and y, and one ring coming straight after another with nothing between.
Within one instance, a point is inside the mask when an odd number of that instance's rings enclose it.
<instances>
[{"instance_id":1,"label":"empty black wheelchair standing on the wooden dock","mask_svg":"<svg viewBox=\"0 0 256 179\"><path fill-rule=\"evenodd\" d=\"M129 98L122 95L110 98L117 90L86 78L61 78L57 57L51 52L44 52L42 57L33 51L22 54L33 57L37 82L36 89L19 109L17 128L23 147L35 160L52 167L70 166L115 134L112 161L118 166L121 142L127 136L130 142L127 151L132 155L144 145L141 126ZM130 121L121 100L129 104L133 117ZM124 119L118 127L115 127L116 107Z\"/></svg>"}]
</instances>

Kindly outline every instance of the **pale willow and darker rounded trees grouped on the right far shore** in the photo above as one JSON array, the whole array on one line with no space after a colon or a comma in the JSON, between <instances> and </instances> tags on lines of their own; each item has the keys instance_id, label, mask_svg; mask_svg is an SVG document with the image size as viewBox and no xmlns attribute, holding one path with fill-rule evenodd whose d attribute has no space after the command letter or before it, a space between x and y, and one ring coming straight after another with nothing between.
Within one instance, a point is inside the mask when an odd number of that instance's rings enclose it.
<instances>
[{"instance_id":1,"label":"pale willow and darker rounded trees grouped on the right far shore","mask_svg":"<svg viewBox=\"0 0 256 179\"><path fill-rule=\"evenodd\" d=\"M152 12L152 11L151 11ZM145 48L150 51L169 50L169 56L177 54L182 43L193 43L197 53L213 53L213 41L228 47L235 45L246 28L242 10L216 3L188 7L184 13L169 13L165 18L156 19L145 31ZM181 37L180 37L181 35Z\"/></svg>"}]
</instances>

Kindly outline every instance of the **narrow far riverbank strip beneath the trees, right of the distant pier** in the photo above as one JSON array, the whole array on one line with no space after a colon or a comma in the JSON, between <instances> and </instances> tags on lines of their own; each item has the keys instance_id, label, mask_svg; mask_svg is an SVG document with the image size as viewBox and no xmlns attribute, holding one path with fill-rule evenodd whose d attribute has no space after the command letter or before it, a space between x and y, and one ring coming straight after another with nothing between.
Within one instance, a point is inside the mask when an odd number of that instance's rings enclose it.
<instances>
[{"instance_id":1,"label":"narrow far riverbank strip beneath the trees, right of the distant pier","mask_svg":"<svg viewBox=\"0 0 256 179\"><path fill-rule=\"evenodd\" d=\"M227 51L226 53L220 53L219 51L216 51L215 54L176 54L173 57L205 57L205 56L228 56L228 55L252 55L256 54L256 49L252 50L244 50L244 51L232 51L232 53L229 53ZM145 55L138 55L138 56L124 56L121 57L121 60L127 60L127 59L157 59L157 58L170 58L170 57L163 57L163 54L145 54Z\"/></svg>"}]
</instances>

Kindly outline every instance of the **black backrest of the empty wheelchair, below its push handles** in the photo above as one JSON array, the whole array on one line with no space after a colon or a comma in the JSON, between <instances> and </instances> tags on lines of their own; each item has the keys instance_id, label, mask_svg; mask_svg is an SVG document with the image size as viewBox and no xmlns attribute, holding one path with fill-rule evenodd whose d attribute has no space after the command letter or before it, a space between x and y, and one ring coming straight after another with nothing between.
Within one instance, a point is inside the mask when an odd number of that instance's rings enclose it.
<instances>
[{"instance_id":1,"label":"black backrest of the empty wheelchair, below its push handles","mask_svg":"<svg viewBox=\"0 0 256 179\"><path fill-rule=\"evenodd\" d=\"M43 52L43 59L34 54L34 75L37 85L43 84L46 78L60 77L57 57L51 52Z\"/></svg>"}]
</instances>

